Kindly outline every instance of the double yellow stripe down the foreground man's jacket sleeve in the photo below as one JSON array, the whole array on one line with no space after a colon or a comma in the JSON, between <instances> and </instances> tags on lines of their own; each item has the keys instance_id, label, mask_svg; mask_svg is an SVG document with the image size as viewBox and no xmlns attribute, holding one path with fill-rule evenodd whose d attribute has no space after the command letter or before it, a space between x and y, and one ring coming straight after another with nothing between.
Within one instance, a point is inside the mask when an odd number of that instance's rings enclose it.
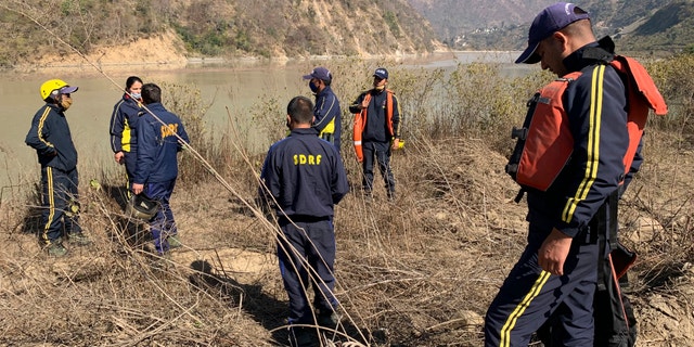
<instances>
[{"instance_id":1,"label":"double yellow stripe down the foreground man's jacket sleeve","mask_svg":"<svg viewBox=\"0 0 694 347\"><path fill-rule=\"evenodd\" d=\"M603 111L603 79L605 76L605 65L597 65L592 75L590 90L590 111L589 111L589 129L588 129L588 146L586 163L586 174L583 180L578 185L578 190L574 197L570 197L562 213L562 220L570 222L578 204L586 200L590 188L597 177L597 166L600 162L600 126Z\"/></svg>"}]
</instances>

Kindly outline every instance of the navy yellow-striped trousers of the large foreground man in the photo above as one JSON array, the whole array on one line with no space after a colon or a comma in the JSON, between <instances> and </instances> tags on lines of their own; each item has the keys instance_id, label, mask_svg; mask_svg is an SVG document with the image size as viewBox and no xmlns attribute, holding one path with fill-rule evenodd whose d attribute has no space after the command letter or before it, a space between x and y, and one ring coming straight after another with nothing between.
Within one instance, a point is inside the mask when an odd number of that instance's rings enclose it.
<instances>
[{"instance_id":1,"label":"navy yellow-striped trousers of the large foreground man","mask_svg":"<svg viewBox=\"0 0 694 347\"><path fill-rule=\"evenodd\" d=\"M485 319L486 347L527 347L532 333L553 317L553 338L561 346L593 345L593 294L597 281L599 247L579 232L564 264L564 275L538 265L538 249L547 232L530 224L528 245L509 273ZM554 314L556 313L556 314Z\"/></svg>"}]
</instances>

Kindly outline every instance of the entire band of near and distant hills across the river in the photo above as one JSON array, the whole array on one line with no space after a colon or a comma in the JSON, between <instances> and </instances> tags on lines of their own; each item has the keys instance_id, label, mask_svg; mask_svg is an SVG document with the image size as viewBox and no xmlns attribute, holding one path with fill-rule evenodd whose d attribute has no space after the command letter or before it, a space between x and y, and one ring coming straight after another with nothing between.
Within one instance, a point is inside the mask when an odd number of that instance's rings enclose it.
<instances>
[{"instance_id":1,"label":"entire band of near and distant hills across the river","mask_svg":"<svg viewBox=\"0 0 694 347\"><path fill-rule=\"evenodd\" d=\"M679 52L694 41L692 0L576 1L599 36L629 51ZM178 59L398 56L440 47L519 50L541 0L205 1L9 0L0 3L0 67L39 67L67 54L107 55L170 40ZM137 61L158 62L147 53ZM75 57L77 56L77 57ZM124 62L119 62L124 63Z\"/></svg>"}]
</instances>

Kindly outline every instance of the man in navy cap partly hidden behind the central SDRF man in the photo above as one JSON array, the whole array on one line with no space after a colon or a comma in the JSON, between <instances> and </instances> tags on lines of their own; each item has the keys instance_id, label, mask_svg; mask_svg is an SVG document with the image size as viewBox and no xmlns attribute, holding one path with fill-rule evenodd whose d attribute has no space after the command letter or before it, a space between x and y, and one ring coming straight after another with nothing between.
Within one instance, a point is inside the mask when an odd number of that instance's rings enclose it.
<instances>
[{"instance_id":1,"label":"man in navy cap partly hidden behind the central SDRF man","mask_svg":"<svg viewBox=\"0 0 694 347\"><path fill-rule=\"evenodd\" d=\"M332 144L339 153L339 137L342 133L342 112L339 100L333 92L330 85L333 75L323 66L316 67L310 74L305 75L308 79L308 87L316 95L316 106L313 107L313 128L318 130L319 137Z\"/></svg>"}]
</instances>

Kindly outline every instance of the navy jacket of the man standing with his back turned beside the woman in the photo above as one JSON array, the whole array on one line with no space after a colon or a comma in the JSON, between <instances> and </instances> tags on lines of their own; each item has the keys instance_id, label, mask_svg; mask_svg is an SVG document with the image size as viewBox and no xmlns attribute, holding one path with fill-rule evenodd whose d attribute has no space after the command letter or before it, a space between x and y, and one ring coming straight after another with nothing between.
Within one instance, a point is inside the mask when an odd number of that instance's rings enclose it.
<instances>
[{"instance_id":1,"label":"navy jacket of the man standing with his back turned beside the woman","mask_svg":"<svg viewBox=\"0 0 694 347\"><path fill-rule=\"evenodd\" d=\"M144 184L175 180L178 177L176 155L182 149L176 134L188 143L188 133L181 119L160 103L146 107L165 125L149 112L138 120L138 164L133 182Z\"/></svg>"}]
</instances>

